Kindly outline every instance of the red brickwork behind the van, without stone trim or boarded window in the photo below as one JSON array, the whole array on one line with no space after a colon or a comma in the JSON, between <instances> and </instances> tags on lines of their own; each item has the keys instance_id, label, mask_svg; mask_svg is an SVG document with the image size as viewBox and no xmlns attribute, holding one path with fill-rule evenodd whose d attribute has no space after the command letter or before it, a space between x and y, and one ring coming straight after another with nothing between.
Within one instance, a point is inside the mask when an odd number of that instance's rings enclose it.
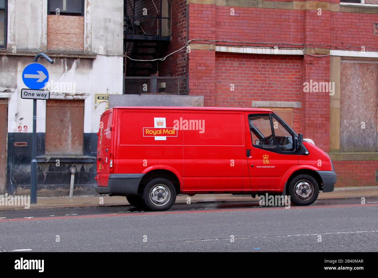
<instances>
[{"instance_id":1,"label":"red brickwork behind the van, without stone trim or boarded window","mask_svg":"<svg viewBox=\"0 0 378 278\"><path fill-rule=\"evenodd\" d=\"M338 4L339 0L322 2ZM329 151L329 92L305 92L303 84L330 81L330 56L319 53L361 50L362 46L376 51L373 47L378 36L374 36L373 23L378 23L378 14L335 12L323 5L319 15L315 5L306 5L312 9L188 4L187 39L268 42L210 42L216 45L303 48L307 44L307 48L320 48L317 57L192 50L188 54L189 89L191 95L204 96L205 106L250 107L253 100L301 101L302 108L294 109L293 128ZM345 48L348 46L351 48ZM235 84L234 91L230 84ZM334 165L338 187L376 185L376 161L335 161Z\"/></svg>"}]
</instances>

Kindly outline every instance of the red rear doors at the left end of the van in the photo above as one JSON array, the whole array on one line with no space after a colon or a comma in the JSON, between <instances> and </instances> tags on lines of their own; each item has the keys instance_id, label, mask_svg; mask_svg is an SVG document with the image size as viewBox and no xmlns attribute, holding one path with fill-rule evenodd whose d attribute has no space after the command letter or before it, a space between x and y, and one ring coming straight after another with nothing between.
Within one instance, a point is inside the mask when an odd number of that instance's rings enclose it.
<instances>
[{"instance_id":1,"label":"red rear doors at the left end of the van","mask_svg":"<svg viewBox=\"0 0 378 278\"><path fill-rule=\"evenodd\" d=\"M113 162L112 154L112 120L113 112L102 114L97 142L97 184L107 186L110 174L110 163ZM114 165L113 165L114 166Z\"/></svg>"}]
</instances>

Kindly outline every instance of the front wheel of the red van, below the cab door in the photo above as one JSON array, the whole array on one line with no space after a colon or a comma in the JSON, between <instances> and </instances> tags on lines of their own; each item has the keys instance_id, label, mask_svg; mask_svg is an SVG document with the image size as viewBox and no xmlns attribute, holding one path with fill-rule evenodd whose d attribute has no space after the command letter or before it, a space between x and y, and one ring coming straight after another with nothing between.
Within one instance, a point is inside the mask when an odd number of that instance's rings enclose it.
<instances>
[{"instance_id":1,"label":"front wheel of the red van, below the cab door","mask_svg":"<svg viewBox=\"0 0 378 278\"><path fill-rule=\"evenodd\" d=\"M311 205L318 199L319 185L310 175L297 175L289 185L290 200L295 205Z\"/></svg>"}]
</instances>

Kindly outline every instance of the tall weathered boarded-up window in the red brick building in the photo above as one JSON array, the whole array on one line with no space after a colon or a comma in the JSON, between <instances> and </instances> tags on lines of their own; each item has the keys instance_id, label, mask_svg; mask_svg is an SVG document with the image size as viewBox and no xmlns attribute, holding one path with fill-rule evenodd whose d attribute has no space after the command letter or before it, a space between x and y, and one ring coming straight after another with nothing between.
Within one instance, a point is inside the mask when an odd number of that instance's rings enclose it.
<instances>
[{"instance_id":1,"label":"tall weathered boarded-up window in the red brick building","mask_svg":"<svg viewBox=\"0 0 378 278\"><path fill-rule=\"evenodd\" d=\"M377 64L341 63L340 151L377 151Z\"/></svg>"}]
</instances>

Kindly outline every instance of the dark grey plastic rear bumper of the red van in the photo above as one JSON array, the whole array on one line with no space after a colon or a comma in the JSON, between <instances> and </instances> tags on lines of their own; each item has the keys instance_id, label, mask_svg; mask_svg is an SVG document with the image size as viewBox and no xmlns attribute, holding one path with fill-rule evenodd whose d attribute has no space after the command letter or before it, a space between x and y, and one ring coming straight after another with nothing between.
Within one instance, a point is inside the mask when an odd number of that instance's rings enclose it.
<instances>
[{"instance_id":1,"label":"dark grey plastic rear bumper of the red van","mask_svg":"<svg viewBox=\"0 0 378 278\"><path fill-rule=\"evenodd\" d=\"M110 174L108 186L95 186L100 194L137 195L138 187L144 174Z\"/></svg>"}]
</instances>

